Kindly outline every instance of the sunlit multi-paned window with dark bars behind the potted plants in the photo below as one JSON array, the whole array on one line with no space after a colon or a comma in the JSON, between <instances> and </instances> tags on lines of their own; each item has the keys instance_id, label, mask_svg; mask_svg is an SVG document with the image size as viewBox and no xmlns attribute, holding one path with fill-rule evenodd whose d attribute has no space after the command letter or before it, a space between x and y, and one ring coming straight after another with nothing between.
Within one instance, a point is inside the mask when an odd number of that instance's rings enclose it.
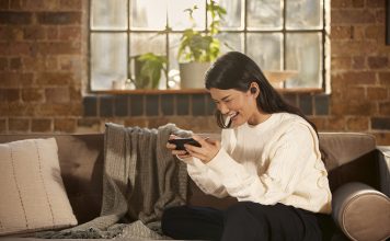
<instances>
[{"instance_id":1,"label":"sunlit multi-paned window with dark bars behind the potted plants","mask_svg":"<svg viewBox=\"0 0 390 241\"><path fill-rule=\"evenodd\" d=\"M230 48L223 45L222 53L245 53L265 71L297 70L284 88L324 88L325 0L216 2L227 10L218 38ZM184 9L194 4L197 27L207 31L206 0L90 0L91 90L110 90L113 80L127 82L134 56L145 53L168 56L159 89L176 88L179 41L191 26Z\"/></svg>"}]
</instances>

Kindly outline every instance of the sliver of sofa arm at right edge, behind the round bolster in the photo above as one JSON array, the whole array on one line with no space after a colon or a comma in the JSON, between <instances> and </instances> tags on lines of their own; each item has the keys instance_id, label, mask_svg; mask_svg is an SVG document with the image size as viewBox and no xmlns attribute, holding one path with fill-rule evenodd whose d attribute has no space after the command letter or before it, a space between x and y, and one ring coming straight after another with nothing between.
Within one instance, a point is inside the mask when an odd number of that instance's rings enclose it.
<instances>
[{"instance_id":1,"label":"sliver of sofa arm at right edge, behind the round bolster","mask_svg":"<svg viewBox=\"0 0 390 241\"><path fill-rule=\"evenodd\" d=\"M390 146L377 147L379 151L380 192L390 197Z\"/></svg>"}]
</instances>

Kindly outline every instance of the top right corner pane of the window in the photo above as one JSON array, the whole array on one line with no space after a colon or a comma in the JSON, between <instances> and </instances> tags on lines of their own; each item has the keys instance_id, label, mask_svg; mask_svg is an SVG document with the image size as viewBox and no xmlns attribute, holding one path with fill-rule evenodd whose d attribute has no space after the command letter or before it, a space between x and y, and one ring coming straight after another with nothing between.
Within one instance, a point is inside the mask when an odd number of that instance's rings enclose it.
<instances>
[{"instance_id":1,"label":"top right corner pane of the window","mask_svg":"<svg viewBox=\"0 0 390 241\"><path fill-rule=\"evenodd\" d=\"M322 28L322 0L286 1L287 28Z\"/></svg>"}]
</instances>

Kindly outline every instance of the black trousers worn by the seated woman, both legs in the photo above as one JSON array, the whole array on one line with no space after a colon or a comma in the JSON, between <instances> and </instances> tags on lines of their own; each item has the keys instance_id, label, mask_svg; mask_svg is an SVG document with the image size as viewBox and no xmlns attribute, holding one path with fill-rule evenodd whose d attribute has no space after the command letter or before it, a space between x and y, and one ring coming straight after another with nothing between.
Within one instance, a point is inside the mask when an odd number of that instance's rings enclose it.
<instances>
[{"instance_id":1,"label":"black trousers worn by the seated woman, both legs","mask_svg":"<svg viewBox=\"0 0 390 241\"><path fill-rule=\"evenodd\" d=\"M321 240L314 214L283 204L240 202L226 210L180 206L164 210L162 231L190 240Z\"/></svg>"}]
</instances>

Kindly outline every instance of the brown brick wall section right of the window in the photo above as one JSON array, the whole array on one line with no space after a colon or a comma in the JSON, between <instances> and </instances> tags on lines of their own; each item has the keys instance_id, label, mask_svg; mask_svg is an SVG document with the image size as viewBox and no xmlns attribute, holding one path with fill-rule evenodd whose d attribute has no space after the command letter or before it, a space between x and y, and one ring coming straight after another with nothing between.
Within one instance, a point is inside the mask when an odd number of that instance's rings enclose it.
<instances>
[{"instance_id":1,"label":"brown brick wall section right of the window","mask_svg":"<svg viewBox=\"0 0 390 241\"><path fill-rule=\"evenodd\" d=\"M334 130L372 133L379 144L390 145L385 2L331 1L332 95L326 122Z\"/></svg>"}]
</instances>

